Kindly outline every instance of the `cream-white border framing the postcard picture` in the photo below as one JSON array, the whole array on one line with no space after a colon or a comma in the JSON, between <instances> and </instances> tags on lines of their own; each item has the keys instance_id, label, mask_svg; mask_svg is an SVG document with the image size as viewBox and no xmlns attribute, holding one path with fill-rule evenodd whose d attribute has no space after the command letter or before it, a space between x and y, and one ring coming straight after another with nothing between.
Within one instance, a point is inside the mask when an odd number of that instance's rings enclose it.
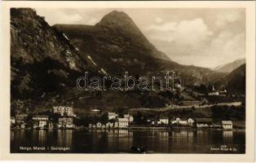
<instances>
[{"instance_id":1,"label":"cream-white border framing the postcard picture","mask_svg":"<svg viewBox=\"0 0 256 163\"><path fill-rule=\"evenodd\" d=\"M232 8L246 10L246 135L245 154L43 154L10 153L10 8ZM254 1L150 1L150 2L68 2L68 1L5 1L2 2L2 59L1 62L1 155L4 160L59 161L254 161L255 109L255 2Z\"/></svg>"}]
</instances>

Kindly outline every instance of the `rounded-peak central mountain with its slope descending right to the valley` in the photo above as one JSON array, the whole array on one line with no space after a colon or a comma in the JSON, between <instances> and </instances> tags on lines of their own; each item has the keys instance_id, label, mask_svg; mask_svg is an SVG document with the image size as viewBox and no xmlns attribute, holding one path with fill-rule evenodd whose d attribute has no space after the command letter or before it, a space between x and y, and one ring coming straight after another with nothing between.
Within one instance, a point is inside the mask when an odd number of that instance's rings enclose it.
<instances>
[{"instance_id":1,"label":"rounded-peak central mountain with its slope descending right to the valley","mask_svg":"<svg viewBox=\"0 0 256 163\"><path fill-rule=\"evenodd\" d=\"M163 75L174 70L186 84L200 84L223 76L208 68L184 66L168 59L152 46L126 13L112 11L95 26L81 24L55 24L65 33L79 51L90 54L108 73L122 76Z\"/></svg>"}]
</instances>

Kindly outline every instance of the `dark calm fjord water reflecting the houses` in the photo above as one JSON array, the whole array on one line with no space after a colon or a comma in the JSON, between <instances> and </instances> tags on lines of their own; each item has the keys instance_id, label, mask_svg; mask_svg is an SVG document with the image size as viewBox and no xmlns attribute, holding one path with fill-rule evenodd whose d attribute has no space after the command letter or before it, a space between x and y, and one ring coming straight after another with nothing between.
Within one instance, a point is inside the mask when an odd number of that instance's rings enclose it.
<instances>
[{"instance_id":1,"label":"dark calm fjord water reflecting the houses","mask_svg":"<svg viewBox=\"0 0 256 163\"><path fill-rule=\"evenodd\" d=\"M11 130L11 152L245 153L244 130Z\"/></svg>"}]
</instances>

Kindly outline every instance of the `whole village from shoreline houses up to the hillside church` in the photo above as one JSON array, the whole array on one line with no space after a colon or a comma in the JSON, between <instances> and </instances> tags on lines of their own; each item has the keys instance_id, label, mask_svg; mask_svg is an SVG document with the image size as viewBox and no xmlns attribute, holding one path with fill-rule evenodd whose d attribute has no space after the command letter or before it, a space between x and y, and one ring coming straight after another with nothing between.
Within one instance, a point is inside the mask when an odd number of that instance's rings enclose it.
<instances>
[{"instance_id":1,"label":"whole village from shoreline houses up to the hillside church","mask_svg":"<svg viewBox=\"0 0 256 163\"><path fill-rule=\"evenodd\" d=\"M234 124L236 121L231 121L232 119L230 118L220 117L218 120L213 120L210 115L196 117L189 113L196 112L196 109L204 109L203 112L205 112L207 109L209 110L216 106L224 108L224 110L239 107L242 103L234 100L236 98L233 96L231 98L228 97L230 95L227 95L227 90L218 91L212 86L207 95L192 91L189 88L179 89L178 93L182 97L180 98L182 99L181 103L166 105L164 108L128 108L124 112L117 112L115 109L105 111L104 109L95 108L86 112L86 117L80 117L80 113L78 113L79 116L74 113L73 103L71 105L52 106L44 113L20 113L12 116L11 129L245 129L244 125L237 126ZM183 99L183 96L188 98L188 95L191 95L194 99L189 99L188 101ZM161 112L170 112L175 109L182 113L178 115L175 113L161 115ZM232 112L236 110L233 109ZM151 112L151 116L138 117L138 112ZM184 115L185 112L189 114ZM239 113L236 113L236 117L237 115Z\"/></svg>"}]
</instances>

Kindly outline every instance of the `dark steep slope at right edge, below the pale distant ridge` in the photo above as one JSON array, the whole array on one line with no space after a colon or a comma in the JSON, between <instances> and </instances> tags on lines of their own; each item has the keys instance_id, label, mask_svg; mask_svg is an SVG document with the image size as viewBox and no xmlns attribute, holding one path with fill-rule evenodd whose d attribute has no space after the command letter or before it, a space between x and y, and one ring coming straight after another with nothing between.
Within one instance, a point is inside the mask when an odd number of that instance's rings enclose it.
<instances>
[{"instance_id":1,"label":"dark steep slope at right edge, below the pale distant ridge","mask_svg":"<svg viewBox=\"0 0 256 163\"><path fill-rule=\"evenodd\" d=\"M246 66L242 64L231 73L228 73L226 77L216 81L216 85L225 87L229 93L245 95L245 74Z\"/></svg>"}]
</instances>

